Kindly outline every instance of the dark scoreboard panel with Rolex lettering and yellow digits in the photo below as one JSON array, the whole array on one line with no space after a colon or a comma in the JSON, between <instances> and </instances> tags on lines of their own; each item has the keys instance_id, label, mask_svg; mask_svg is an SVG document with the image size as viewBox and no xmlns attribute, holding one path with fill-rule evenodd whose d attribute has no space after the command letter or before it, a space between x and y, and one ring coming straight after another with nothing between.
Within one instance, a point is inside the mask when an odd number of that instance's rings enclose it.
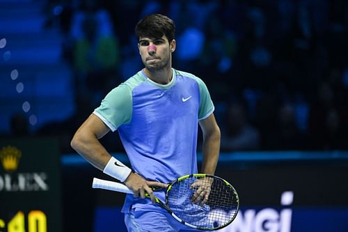
<instances>
[{"instance_id":1,"label":"dark scoreboard panel with Rolex lettering and yellow digits","mask_svg":"<svg viewBox=\"0 0 348 232\"><path fill-rule=\"evenodd\" d=\"M54 139L0 140L0 231L60 232L61 175Z\"/></svg>"}]
</instances>

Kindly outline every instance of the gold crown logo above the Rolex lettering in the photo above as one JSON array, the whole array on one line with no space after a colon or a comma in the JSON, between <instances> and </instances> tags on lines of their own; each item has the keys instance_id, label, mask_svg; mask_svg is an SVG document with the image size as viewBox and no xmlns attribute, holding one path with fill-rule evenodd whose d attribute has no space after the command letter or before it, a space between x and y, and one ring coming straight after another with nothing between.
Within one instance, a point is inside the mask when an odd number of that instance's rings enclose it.
<instances>
[{"instance_id":1,"label":"gold crown logo above the Rolex lettering","mask_svg":"<svg viewBox=\"0 0 348 232\"><path fill-rule=\"evenodd\" d=\"M0 150L0 161L5 171L17 170L22 152L14 146L5 146Z\"/></svg>"}]
</instances>

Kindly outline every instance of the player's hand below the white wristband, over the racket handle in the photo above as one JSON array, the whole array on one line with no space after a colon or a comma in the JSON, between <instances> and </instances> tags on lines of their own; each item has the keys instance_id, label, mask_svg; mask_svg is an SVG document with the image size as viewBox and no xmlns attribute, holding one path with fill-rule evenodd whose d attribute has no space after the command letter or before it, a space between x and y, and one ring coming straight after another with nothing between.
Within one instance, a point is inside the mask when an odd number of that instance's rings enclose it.
<instances>
[{"instance_id":1,"label":"player's hand below the white wristband, over the racket handle","mask_svg":"<svg viewBox=\"0 0 348 232\"><path fill-rule=\"evenodd\" d=\"M145 180L139 176L139 174L133 172L129 174L124 183L134 192L134 197L141 197L141 199L145 199L145 192L147 192L150 195L152 203L155 203L156 199L151 187L168 187L168 185L165 183Z\"/></svg>"}]
</instances>

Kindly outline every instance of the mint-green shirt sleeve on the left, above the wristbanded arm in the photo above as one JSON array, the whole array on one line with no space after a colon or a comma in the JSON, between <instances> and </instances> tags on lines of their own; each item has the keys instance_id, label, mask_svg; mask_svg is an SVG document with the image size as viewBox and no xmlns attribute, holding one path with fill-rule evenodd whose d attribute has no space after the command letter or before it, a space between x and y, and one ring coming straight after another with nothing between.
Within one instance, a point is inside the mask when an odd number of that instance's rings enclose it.
<instances>
[{"instance_id":1,"label":"mint-green shirt sleeve on the left, above the wristbanded arm","mask_svg":"<svg viewBox=\"0 0 348 232\"><path fill-rule=\"evenodd\" d=\"M111 131L132 120L132 90L126 84L113 88L93 114L98 116Z\"/></svg>"}]
</instances>

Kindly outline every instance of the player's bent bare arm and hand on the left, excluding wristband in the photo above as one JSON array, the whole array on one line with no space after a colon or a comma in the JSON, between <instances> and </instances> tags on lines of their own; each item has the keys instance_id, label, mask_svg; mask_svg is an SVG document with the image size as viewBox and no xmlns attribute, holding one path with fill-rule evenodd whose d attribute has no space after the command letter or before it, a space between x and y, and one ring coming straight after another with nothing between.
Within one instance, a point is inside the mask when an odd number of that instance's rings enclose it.
<instances>
[{"instance_id":1,"label":"player's bent bare arm and hand on the left, excluding wristband","mask_svg":"<svg viewBox=\"0 0 348 232\"><path fill-rule=\"evenodd\" d=\"M91 114L74 134L71 146L90 164L103 171L111 159L111 155L100 144L99 139L109 131L109 127L100 118ZM152 202L155 202L155 197L150 186L166 187L164 183L147 181L136 173L129 174L125 180L125 185L134 192L136 197L145 198L145 192L148 192Z\"/></svg>"}]
</instances>

